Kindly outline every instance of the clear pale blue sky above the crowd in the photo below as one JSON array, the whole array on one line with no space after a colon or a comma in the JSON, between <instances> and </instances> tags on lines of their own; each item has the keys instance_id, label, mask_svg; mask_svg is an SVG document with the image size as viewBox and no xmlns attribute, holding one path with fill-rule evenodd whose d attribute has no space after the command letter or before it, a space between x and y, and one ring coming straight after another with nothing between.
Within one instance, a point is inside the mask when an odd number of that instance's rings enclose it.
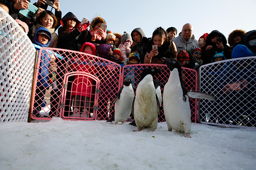
<instances>
[{"instance_id":1,"label":"clear pale blue sky above the crowd","mask_svg":"<svg viewBox=\"0 0 256 170\"><path fill-rule=\"evenodd\" d=\"M81 21L98 14L113 33L140 27L146 37L160 26L176 27L180 33L185 23L191 23L196 39L214 29L228 39L234 29L256 29L255 8L256 0L60 0L62 17L72 12Z\"/></svg>"}]
</instances>

